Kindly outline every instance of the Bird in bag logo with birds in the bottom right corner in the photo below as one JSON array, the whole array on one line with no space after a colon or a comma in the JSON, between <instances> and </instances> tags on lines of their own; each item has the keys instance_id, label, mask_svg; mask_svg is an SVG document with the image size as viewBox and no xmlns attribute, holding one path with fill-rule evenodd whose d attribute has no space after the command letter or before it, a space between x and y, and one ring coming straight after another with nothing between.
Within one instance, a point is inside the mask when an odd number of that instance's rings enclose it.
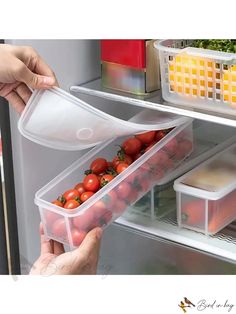
<instances>
[{"instance_id":1,"label":"Bird in bag logo with birds in the bottom right corner","mask_svg":"<svg viewBox=\"0 0 236 314\"><path fill-rule=\"evenodd\" d=\"M231 312L235 305L229 300L218 302L217 300L208 301L206 299L201 299L198 302L192 302L188 298L184 297L183 300L178 304L179 308L183 313L187 313L189 310L195 310L198 312L209 312L208 310L215 310L219 313L219 310L225 310L226 312ZM194 312L194 311L193 311ZM222 313L222 312L221 312Z\"/></svg>"}]
</instances>

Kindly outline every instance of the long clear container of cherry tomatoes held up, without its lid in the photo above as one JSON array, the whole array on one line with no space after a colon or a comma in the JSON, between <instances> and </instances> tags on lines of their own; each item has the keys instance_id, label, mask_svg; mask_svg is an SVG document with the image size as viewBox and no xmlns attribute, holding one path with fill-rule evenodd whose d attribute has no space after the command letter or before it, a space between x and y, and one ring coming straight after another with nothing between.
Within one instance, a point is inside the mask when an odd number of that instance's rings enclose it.
<instances>
[{"instance_id":1,"label":"long clear container of cherry tomatoes held up, without its lid","mask_svg":"<svg viewBox=\"0 0 236 314\"><path fill-rule=\"evenodd\" d=\"M99 190L89 200L73 211L66 211L51 202L64 191L73 188L84 177L84 171L97 157L111 160L126 137L110 140L95 147L69 168L59 174L36 193L35 203L39 206L45 235L69 245L80 244L85 234L96 226L106 227L118 218L125 209L146 194L159 180L180 164L192 152L192 121L170 131L161 141L143 154L124 172ZM189 143L181 152L178 143ZM174 148L174 149L173 149ZM117 195L119 185L126 185L127 195Z\"/></svg>"}]
</instances>

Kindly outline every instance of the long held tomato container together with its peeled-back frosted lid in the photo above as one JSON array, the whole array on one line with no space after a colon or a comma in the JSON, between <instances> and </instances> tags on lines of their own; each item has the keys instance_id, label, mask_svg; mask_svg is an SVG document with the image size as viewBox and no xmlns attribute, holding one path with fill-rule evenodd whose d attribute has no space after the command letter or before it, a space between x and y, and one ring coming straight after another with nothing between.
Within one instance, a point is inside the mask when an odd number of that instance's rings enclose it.
<instances>
[{"instance_id":1,"label":"long held tomato container together with its peeled-back frosted lid","mask_svg":"<svg viewBox=\"0 0 236 314\"><path fill-rule=\"evenodd\" d=\"M83 181L84 172L94 159L102 157L111 161L117 154L117 146L130 134L160 129L172 130L83 204L73 210L52 204ZM50 148L79 151L97 145L35 195L45 235L70 248L79 246L94 227L105 228L112 223L193 149L191 119L142 110L125 121L58 88L33 93L20 118L19 130L26 138ZM179 143L184 144L182 149ZM128 187L128 195L123 198L117 192L121 184Z\"/></svg>"}]
</instances>

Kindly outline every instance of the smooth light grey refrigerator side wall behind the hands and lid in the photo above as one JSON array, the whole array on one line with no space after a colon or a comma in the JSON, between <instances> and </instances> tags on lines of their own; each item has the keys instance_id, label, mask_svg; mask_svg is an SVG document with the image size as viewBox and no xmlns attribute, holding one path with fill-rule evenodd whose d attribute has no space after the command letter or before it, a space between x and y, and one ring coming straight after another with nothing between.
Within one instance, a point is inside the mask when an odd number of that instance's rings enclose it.
<instances>
[{"instance_id":1,"label":"smooth light grey refrigerator side wall behind the hands and lid","mask_svg":"<svg viewBox=\"0 0 236 314\"><path fill-rule=\"evenodd\" d=\"M69 91L72 83L81 84L99 76L98 41L11 40L7 43L32 46L51 66L64 90ZM82 152L53 150L35 144L21 136L18 120L19 115L11 110L21 272L28 274L40 254L40 216L34 205L35 192L82 156Z\"/></svg>"}]
</instances>

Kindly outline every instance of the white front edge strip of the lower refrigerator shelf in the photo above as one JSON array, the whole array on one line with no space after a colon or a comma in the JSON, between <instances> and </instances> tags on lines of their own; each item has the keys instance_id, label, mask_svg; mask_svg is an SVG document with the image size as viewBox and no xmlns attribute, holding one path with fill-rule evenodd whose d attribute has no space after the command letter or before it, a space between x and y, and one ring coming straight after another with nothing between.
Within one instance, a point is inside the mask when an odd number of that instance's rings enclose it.
<instances>
[{"instance_id":1,"label":"white front edge strip of the lower refrigerator shelf","mask_svg":"<svg viewBox=\"0 0 236 314\"><path fill-rule=\"evenodd\" d=\"M236 264L236 244L234 243L208 237L187 229L180 229L177 226L165 222L157 220L151 221L149 218L142 215L132 214L130 217L132 218L127 219L122 216L118 218L115 223L130 230L140 231L147 236L152 235L165 239Z\"/></svg>"}]
</instances>

